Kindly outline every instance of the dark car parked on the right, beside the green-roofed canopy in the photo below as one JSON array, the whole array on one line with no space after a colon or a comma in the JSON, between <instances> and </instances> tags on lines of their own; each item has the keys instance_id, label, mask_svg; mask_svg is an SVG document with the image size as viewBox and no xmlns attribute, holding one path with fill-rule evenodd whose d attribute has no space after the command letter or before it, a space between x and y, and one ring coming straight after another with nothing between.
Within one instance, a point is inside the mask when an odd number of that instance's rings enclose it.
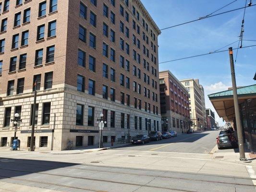
<instances>
[{"instance_id":1,"label":"dark car parked on the right, beside the green-roofed canopy","mask_svg":"<svg viewBox=\"0 0 256 192\"><path fill-rule=\"evenodd\" d=\"M234 147L238 146L237 140L234 134L230 130L220 131L217 139L218 148Z\"/></svg>"}]
</instances>

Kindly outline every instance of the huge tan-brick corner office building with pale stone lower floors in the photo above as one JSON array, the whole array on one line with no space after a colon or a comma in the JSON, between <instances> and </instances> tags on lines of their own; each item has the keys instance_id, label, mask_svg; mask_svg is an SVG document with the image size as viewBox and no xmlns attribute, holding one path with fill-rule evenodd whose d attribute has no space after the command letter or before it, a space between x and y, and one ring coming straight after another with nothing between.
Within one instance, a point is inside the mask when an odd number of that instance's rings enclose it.
<instances>
[{"instance_id":1,"label":"huge tan-brick corner office building with pale stone lower floors","mask_svg":"<svg viewBox=\"0 0 256 192\"><path fill-rule=\"evenodd\" d=\"M0 146L98 145L160 127L158 26L140 0L0 0ZM33 82L37 80L37 86ZM147 119L149 118L149 120Z\"/></svg>"}]
</instances>

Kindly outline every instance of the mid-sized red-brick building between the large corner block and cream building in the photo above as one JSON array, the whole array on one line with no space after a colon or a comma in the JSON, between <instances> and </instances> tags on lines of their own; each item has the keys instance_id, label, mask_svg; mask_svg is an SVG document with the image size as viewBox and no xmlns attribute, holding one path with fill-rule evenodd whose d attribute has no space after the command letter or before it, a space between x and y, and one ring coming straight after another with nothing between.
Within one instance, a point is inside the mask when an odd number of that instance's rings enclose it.
<instances>
[{"instance_id":1,"label":"mid-sized red-brick building between the large corner block and cream building","mask_svg":"<svg viewBox=\"0 0 256 192\"><path fill-rule=\"evenodd\" d=\"M189 128L188 91L170 72L159 72L162 131L186 132Z\"/></svg>"}]
</instances>

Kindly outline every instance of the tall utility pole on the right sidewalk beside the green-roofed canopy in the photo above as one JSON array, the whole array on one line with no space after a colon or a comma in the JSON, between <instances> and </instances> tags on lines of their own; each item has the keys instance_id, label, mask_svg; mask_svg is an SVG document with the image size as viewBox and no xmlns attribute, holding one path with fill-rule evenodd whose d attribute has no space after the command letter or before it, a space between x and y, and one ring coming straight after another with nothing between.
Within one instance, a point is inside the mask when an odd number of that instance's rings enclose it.
<instances>
[{"instance_id":1,"label":"tall utility pole on the right sidewalk beside the green-roofed canopy","mask_svg":"<svg viewBox=\"0 0 256 192\"><path fill-rule=\"evenodd\" d=\"M238 106L238 98L237 98L237 90L236 90L235 70L234 70L234 60L233 60L233 50L232 50L232 48L229 48L229 56L230 56L230 68L231 68L233 99L234 99L234 108L235 108L235 120L236 120L240 160L241 161L246 161L247 159L245 158L245 154L244 154L244 138L243 138L240 112L239 112L239 106Z\"/></svg>"}]
</instances>

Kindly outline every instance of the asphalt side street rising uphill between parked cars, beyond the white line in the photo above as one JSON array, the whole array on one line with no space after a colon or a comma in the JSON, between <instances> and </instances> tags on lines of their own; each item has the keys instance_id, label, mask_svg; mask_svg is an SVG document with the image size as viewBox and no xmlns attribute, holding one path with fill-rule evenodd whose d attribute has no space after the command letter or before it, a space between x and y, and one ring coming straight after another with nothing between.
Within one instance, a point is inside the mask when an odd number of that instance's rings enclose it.
<instances>
[{"instance_id":1,"label":"asphalt side street rising uphill between parked cars, beyond the white line","mask_svg":"<svg viewBox=\"0 0 256 192\"><path fill-rule=\"evenodd\" d=\"M216 145L216 137L219 131L196 132L181 134L171 139L152 141L148 144L129 145L115 150L159 151L177 153L207 154Z\"/></svg>"}]
</instances>

